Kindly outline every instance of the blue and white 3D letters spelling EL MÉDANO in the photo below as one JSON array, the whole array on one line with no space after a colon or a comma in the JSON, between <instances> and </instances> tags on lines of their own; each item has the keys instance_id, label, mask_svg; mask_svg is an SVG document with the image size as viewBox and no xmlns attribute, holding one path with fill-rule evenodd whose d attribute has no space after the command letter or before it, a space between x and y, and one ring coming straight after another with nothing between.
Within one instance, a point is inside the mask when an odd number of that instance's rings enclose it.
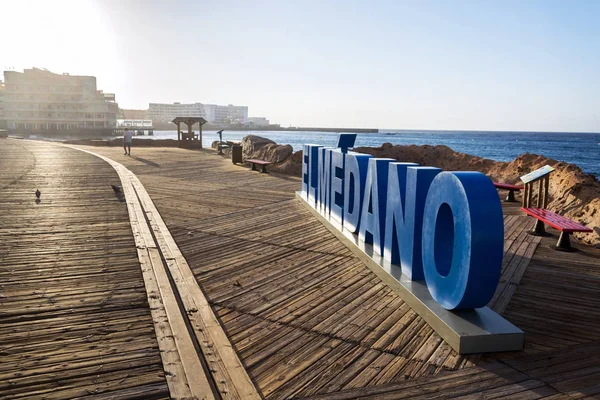
<instances>
[{"instance_id":1,"label":"blue and white 3D letters spelling EL M\u00c9DANO","mask_svg":"<svg viewBox=\"0 0 600 400\"><path fill-rule=\"evenodd\" d=\"M494 295L504 224L485 175L309 144L301 196L408 279L425 280L444 308L484 307Z\"/></svg>"}]
</instances>

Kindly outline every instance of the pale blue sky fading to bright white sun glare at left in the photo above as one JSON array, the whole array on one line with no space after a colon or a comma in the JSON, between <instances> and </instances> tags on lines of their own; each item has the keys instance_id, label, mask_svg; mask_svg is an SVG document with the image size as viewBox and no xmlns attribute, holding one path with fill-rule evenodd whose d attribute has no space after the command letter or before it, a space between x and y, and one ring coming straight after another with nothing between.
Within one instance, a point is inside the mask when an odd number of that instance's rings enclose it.
<instances>
[{"instance_id":1,"label":"pale blue sky fading to bright white sun glare at left","mask_svg":"<svg viewBox=\"0 0 600 400\"><path fill-rule=\"evenodd\" d=\"M600 1L0 0L0 68L282 126L600 132Z\"/></svg>"}]
</instances>

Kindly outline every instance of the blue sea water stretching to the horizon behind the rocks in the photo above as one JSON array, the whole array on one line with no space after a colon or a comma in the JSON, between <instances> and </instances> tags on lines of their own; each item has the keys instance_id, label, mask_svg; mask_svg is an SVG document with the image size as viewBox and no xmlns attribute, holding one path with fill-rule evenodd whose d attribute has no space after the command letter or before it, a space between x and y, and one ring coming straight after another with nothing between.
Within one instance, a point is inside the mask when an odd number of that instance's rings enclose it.
<instances>
[{"instance_id":1,"label":"blue sea water stretching to the horizon behind the rocks","mask_svg":"<svg viewBox=\"0 0 600 400\"><path fill-rule=\"evenodd\" d=\"M294 151L307 143L335 146L339 134L333 132L287 131L224 131L223 140L241 140L246 135L258 135L278 144L290 144ZM177 139L176 131L155 131L154 139ZM204 146L218 140L216 131L203 131ZM379 133L359 133L356 146L378 147L383 143L401 145L446 145L454 151L496 161L511 161L523 153L535 153L576 164L589 174L600 177L600 133L558 132L476 132L380 130Z\"/></svg>"}]
</instances>

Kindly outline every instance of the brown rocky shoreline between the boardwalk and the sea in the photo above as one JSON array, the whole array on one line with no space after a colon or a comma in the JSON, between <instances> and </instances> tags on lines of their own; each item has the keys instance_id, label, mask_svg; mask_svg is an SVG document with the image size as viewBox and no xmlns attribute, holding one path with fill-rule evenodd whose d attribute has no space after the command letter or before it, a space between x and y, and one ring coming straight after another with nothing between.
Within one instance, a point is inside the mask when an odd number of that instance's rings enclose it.
<instances>
[{"instance_id":1,"label":"brown rocky shoreline between the boardwalk and the sea","mask_svg":"<svg viewBox=\"0 0 600 400\"><path fill-rule=\"evenodd\" d=\"M279 145L272 140L248 135L242 140L244 159L258 158L274 163L270 170L300 176L302 151L293 152L290 145ZM213 144L216 147L216 144ZM455 152L448 146L402 146L384 143L381 147L357 147L354 151L374 157L393 158L403 162L434 166L445 171L479 171L495 182L520 182L519 177L544 165L555 171L550 175L550 203L548 208L593 229L592 233L575 233L582 243L600 247L600 182L573 164L557 161L538 154L525 153L513 161L494 161Z\"/></svg>"}]
</instances>

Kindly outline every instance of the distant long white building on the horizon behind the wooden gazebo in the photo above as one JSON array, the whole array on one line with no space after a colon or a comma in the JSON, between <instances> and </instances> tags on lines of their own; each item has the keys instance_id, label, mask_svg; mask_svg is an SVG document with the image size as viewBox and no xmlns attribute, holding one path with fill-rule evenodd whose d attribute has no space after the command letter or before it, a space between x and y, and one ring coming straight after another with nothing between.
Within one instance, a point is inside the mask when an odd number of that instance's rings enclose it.
<instances>
[{"instance_id":1,"label":"distant long white building on the horizon behind the wooden gazebo","mask_svg":"<svg viewBox=\"0 0 600 400\"><path fill-rule=\"evenodd\" d=\"M171 122L176 117L202 117L212 124L245 124L248 122L248 107L232 104L150 103L147 116L154 122Z\"/></svg>"}]
</instances>

